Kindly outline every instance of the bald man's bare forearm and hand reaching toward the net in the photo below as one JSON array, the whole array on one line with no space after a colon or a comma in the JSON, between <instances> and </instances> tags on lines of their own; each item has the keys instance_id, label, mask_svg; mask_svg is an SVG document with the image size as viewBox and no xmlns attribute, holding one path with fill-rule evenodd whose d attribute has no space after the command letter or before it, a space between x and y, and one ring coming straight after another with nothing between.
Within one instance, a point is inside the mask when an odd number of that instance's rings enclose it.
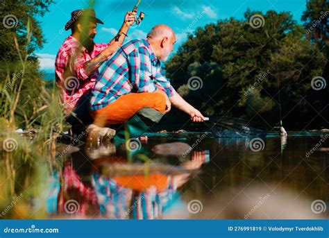
<instances>
[{"instance_id":1,"label":"bald man's bare forearm and hand reaching toward the net","mask_svg":"<svg viewBox=\"0 0 329 238\"><path fill-rule=\"evenodd\" d=\"M203 114L201 114L199 110L196 110L192 105L187 103L187 101L185 101L176 91L174 92L173 96L169 97L169 99L171 101L171 104L174 105L174 107L189 114L189 117L191 117L192 121L205 121L205 117L203 117Z\"/></svg>"}]
</instances>

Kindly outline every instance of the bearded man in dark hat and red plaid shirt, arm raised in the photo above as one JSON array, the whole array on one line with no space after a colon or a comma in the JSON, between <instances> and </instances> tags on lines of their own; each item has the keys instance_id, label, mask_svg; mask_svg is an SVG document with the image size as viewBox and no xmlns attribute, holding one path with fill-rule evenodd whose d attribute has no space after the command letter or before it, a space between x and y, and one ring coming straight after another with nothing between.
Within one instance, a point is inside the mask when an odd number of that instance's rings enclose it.
<instances>
[{"instance_id":1,"label":"bearded man in dark hat and red plaid shirt, arm raised","mask_svg":"<svg viewBox=\"0 0 329 238\"><path fill-rule=\"evenodd\" d=\"M96 17L94 9L75 10L65 25L71 35L65 39L56 56L56 84L60 90L65 112L71 114L70 124L91 121L88 113L89 92L99 76L99 67L124 42L128 28L135 22L136 12L127 12L119 31L119 39L108 43L94 43L96 24L103 22ZM72 113L73 112L73 113ZM72 117L73 115L73 117Z\"/></svg>"}]
</instances>

